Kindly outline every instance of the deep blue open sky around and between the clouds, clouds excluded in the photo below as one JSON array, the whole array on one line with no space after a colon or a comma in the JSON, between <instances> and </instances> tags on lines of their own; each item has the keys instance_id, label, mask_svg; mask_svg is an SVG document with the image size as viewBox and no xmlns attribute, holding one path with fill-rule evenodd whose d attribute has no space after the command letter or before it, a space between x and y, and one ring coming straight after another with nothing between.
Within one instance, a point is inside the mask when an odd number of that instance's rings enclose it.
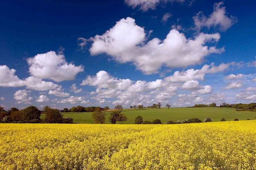
<instances>
[{"instance_id":1,"label":"deep blue open sky around and between the clouds, clouds excluded","mask_svg":"<svg viewBox=\"0 0 256 170\"><path fill-rule=\"evenodd\" d=\"M86 78L86 76L94 76L100 70L105 70L111 76L116 78L130 80L145 80L154 81L156 79L163 79L170 76L176 70L187 70L190 68L200 69L204 64L212 62L218 66L221 63L230 62L253 62L256 56L256 1L224 1L226 12L228 16L235 16L237 22L234 23L226 31L220 31L218 28L204 27L200 32L203 33L220 33L221 38L218 42L213 43L218 48L225 48L221 54L212 54L204 58L202 63L187 66L183 68L166 68L162 67L158 74L143 74L141 70L136 69L132 62L118 63L112 57L106 54L91 56L88 51L90 45L83 49L78 46L78 37L86 39L94 37L95 35L102 35L104 32L113 27L117 21L122 18L131 17L135 19L136 25L144 27L145 31L153 30L147 41L152 38L159 38L161 40L166 38L166 35L171 30L171 26L181 25L184 30L180 32L186 35L186 38L193 39L197 32L192 30L194 22L192 17L199 11L204 12L207 17L213 12L213 5L216 0L195 0L191 5L188 2L184 3L160 3L156 9L149 9L142 11L139 7L132 8L122 0L94 0L94 1L5 1L0 2L0 65L7 65L9 68L16 70L16 75L20 79L25 79L30 76L28 72L27 58L34 57L37 54L47 53L48 51L58 51L60 47L64 48L65 59L68 63L72 62L76 66L82 64L84 72L76 75L76 78L71 81L54 82L54 80L44 79L56 84L62 85L64 92L69 92L70 96L82 96L84 100L89 100L90 105L100 106L114 106L113 101L120 100L118 98L104 98L106 102L98 103L95 98L90 95L91 91L95 91L92 86L80 86L79 84ZM166 23L163 23L162 16L166 13L171 13L172 17ZM146 41L146 42L147 42ZM207 44L208 45L208 44ZM245 64L246 65L246 64ZM168 70L168 71L166 71ZM162 73L165 73L164 77ZM1 74L1 72L0 72ZM232 80L233 82L244 82L240 88L232 88L224 90L225 86L231 82L224 79L224 76L229 74L244 74L241 80ZM243 79L245 78L246 81ZM201 95L204 100L201 103L207 103L208 96L216 93L225 94L226 98L218 102L253 102L244 98L235 98L236 94L246 93L245 89L254 87L255 82L250 80L255 78L255 66L243 66L239 68L234 66L223 72L216 74L207 74L204 81L198 80L200 85L212 86L212 92ZM248 81L248 82L247 82ZM78 88L82 88L82 93L70 92L70 86L76 83ZM16 106L19 108L28 106L29 104L16 104L14 100L14 92L25 89L22 87L4 87L0 86L0 100L6 108ZM161 91L161 90L160 90ZM160 92L159 91L159 92ZM170 99L166 100L171 105L181 106L184 101L178 101L178 94L189 94L193 90L178 90L172 94ZM254 95L255 91L251 91L249 96ZM42 94L49 98L48 102L35 102L35 100ZM52 107L71 107L80 104L81 101L70 103L56 103L51 100L57 98L59 101L63 98L51 96L48 91L31 90L30 96L33 97L31 104L36 106L50 105ZM201 97L199 94L197 97ZM101 98L103 99L103 98ZM154 99L154 97L152 97ZM132 98L129 99L130 103ZM156 99L154 99L155 102ZM194 104L194 99L190 100L190 105ZM57 101L57 100L56 100ZM162 100L161 100L162 101ZM191 102L192 101L192 102ZM136 101L138 104L140 101ZM153 102L154 103L154 102ZM152 103L152 104L153 104ZM164 104L166 102L163 102ZM126 105L121 102L121 104ZM148 105L142 102L144 105ZM180 105L179 105L180 104ZM86 104L87 105L87 104ZM85 106L86 106L85 105ZM189 105L189 104L188 104ZM184 105L185 106L185 105Z\"/></svg>"}]
</instances>

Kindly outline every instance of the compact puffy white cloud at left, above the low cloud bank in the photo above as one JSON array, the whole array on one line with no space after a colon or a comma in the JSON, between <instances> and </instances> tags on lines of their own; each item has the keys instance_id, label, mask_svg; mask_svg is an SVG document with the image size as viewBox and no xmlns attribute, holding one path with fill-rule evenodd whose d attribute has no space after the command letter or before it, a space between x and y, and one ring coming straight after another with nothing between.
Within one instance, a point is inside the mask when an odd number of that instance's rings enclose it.
<instances>
[{"instance_id":1,"label":"compact puffy white cloud at left, above the low cloud bank","mask_svg":"<svg viewBox=\"0 0 256 170\"><path fill-rule=\"evenodd\" d=\"M74 80L76 74L84 71L82 65L75 66L67 63L64 55L49 51L28 58L29 72L33 76L41 79L51 79L56 82L64 80Z\"/></svg>"}]
</instances>

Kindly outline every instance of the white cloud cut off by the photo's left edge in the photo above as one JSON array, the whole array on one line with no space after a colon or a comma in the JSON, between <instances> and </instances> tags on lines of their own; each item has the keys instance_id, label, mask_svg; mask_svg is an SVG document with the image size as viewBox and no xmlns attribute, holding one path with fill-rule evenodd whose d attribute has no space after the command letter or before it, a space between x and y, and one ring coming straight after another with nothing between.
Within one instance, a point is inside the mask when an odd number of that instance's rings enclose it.
<instances>
[{"instance_id":1,"label":"white cloud cut off by the photo's left edge","mask_svg":"<svg viewBox=\"0 0 256 170\"><path fill-rule=\"evenodd\" d=\"M24 81L15 75L16 70L10 69L6 65L0 65L0 86L3 87L21 87Z\"/></svg>"}]
</instances>

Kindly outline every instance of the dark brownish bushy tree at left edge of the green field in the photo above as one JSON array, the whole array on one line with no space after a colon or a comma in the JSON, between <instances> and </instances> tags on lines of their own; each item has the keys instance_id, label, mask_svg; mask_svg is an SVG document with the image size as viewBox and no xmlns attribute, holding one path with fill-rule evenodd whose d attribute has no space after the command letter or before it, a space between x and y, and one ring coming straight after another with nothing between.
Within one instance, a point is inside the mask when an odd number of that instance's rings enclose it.
<instances>
[{"instance_id":1,"label":"dark brownish bushy tree at left edge of the green field","mask_svg":"<svg viewBox=\"0 0 256 170\"><path fill-rule=\"evenodd\" d=\"M45 123L62 123L63 115L60 114L60 111L58 109L52 109L48 108L45 117L44 122Z\"/></svg>"}]
</instances>

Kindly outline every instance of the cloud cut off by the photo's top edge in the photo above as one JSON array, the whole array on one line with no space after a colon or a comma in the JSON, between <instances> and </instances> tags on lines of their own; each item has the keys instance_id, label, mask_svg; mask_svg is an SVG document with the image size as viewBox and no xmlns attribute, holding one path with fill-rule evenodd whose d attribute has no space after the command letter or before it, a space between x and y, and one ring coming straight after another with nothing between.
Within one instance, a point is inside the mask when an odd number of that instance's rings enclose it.
<instances>
[{"instance_id":1,"label":"cloud cut off by the photo's top edge","mask_svg":"<svg viewBox=\"0 0 256 170\"><path fill-rule=\"evenodd\" d=\"M160 3L167 2L185 2L186 0L124 0L124 2L132 8L139 7L142 11L148 11L149 9L154 10Z\"/></svg>"}]
</instances>

